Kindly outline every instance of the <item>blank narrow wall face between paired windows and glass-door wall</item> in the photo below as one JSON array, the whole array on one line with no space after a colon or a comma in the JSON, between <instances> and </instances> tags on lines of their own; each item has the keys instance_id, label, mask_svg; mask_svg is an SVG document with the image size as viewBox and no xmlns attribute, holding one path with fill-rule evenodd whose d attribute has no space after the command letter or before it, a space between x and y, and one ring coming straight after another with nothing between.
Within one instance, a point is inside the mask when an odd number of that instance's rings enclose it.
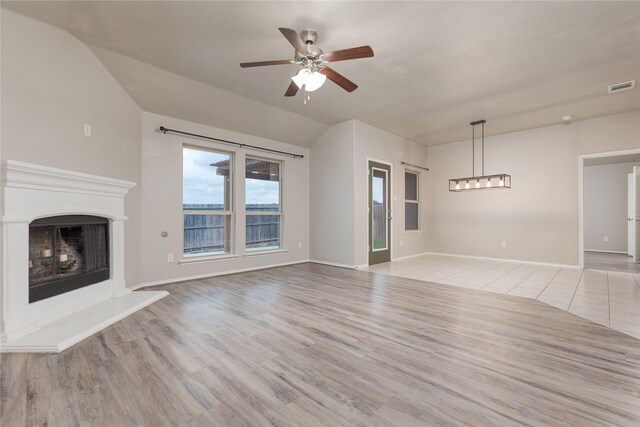
<instances>
[{"instance_id":1,"label":"blank narrow wall face between paired windows and glass-door wall","mask_svg":"<svg viewBox=\"0 0 640 427\"><path fill-rule=\"evenodd\" d=\"M311 147L312 261L354 264L355 121L331 127Z\"/></svg>"}]
</instances>

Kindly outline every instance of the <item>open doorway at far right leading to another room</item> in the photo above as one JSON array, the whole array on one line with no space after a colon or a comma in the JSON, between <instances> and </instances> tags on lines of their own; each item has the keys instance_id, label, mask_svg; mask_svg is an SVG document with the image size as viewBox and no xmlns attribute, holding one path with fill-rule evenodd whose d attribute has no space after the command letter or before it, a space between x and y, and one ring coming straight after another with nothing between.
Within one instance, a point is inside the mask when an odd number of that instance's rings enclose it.
<instances>
[{"instance_id":1,"label":"open doorway at far right leading to another room","mask_svg":"<svg viewBox=\"0 0 640 427\"><path fill-rule=\"evenodd\" d=\"M640 150L580 156L580 266L640 273Z\"/></svg>"}]
</instances>

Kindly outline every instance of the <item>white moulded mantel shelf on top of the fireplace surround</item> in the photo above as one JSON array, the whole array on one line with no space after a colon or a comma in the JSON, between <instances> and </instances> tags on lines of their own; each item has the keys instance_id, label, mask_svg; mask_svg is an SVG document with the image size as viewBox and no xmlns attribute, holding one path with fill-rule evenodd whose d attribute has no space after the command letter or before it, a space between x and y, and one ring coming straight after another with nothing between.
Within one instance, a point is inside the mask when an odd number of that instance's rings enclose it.
<instances>
[{"instance_id":1,"label":"white moulded mantel shelf on top of the fireplace surround","mask_svg":"<svg viewBox=\"0 0 640 427\"><path fill-rule=\"evenodd\" d=\"M124 198L135 182L3 159L4 187Z\"/></svg>"}]
</instances>

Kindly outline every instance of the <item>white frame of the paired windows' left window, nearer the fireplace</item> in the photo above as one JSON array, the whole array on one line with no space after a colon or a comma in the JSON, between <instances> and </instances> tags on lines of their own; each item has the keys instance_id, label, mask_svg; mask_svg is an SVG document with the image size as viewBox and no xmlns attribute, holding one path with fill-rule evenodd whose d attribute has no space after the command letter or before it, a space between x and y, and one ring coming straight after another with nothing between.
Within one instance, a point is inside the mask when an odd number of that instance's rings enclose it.
<instances>
[{"instance_id":1,"label":"white frame of the paired windows' left window, nearer the fireplace","mask_svg":"<svg viewBox=\"0 0 640 427\"><path fill-rule=\"evenodd\" d=\"M229 156L229 209L225 210L189 210L184 209L184 149L208 151L216 154L224 154ZM195 144L182 144L182 260L198 261L218 258L235 257L235 240L236 240L236 221L235 221L235 163L236 153L233 151L220 150L214 147L207 147ZM229 216L229 251L225 252L201 252L194 254L185 253L185 215L226 215Z\"/></svg>"}]
</instances>

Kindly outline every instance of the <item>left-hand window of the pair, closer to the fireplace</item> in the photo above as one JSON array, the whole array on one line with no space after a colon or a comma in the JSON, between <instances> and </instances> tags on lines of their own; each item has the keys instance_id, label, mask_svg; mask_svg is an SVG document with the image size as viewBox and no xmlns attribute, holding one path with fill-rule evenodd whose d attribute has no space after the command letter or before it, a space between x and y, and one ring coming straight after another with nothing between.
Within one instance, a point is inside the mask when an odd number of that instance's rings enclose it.
<instances>
[{"instance_id":1,"label":"left-hand window of the pair, closer to the fireplace","mask_svg":"<svg viewBox=\"0 0 640 427\"><path fill-rule=\"evenodd\" d=\"M231 253L233 157L194 147L182 149L184 255Z\"/></svg>"}]
</instances>

